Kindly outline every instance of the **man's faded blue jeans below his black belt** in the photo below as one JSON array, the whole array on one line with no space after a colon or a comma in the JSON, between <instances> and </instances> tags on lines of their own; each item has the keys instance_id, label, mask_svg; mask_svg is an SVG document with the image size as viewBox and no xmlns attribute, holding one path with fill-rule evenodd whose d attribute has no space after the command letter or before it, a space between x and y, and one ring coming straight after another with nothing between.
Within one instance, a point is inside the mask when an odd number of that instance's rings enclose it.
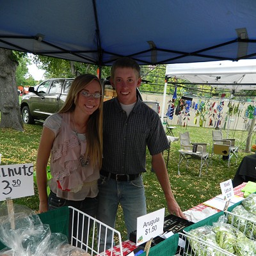
<instances>
[{"instance_id":1,"label":"man's faded blue jeans below his black belt","mask_svg":"<svg viewBox=\"0 0 256 256\"><path fill-rule=\"evenodd\" d=\"M147 214L142 176L131 181L116 181L100 175L98 202L97 220L112 228L115 228L118 205L122 206L129 236L137 229L137 218ZM104 249L104 243L106 243L106 249L111 247L112 236L108 236L105 242L105 232L103 229L100 233L101 251Z\"/></svg>"}]
</instances>

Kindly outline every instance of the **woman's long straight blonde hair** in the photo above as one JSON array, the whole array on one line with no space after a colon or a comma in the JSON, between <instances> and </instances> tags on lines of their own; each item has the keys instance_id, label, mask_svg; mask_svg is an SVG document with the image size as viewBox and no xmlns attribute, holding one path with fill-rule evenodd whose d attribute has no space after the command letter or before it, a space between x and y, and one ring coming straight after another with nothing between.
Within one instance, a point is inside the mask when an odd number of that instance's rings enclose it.
<instances>
[{"instance_id":1,"label":"woman's long straight blonde hair","mask_svg":"<svg viewBox=\"0 0 256 256\"><path fill-rule=\"evenodd\" d=\"M102 84L97 76L92 74L83 74L77 76L70 86L70 90L65 100L65 104L60 109L59 113L72 112L76 108L78 93L83 90L84 86L90 84L93 80L100 84L100 105L97 110L90 115L87 129L86 141L87 147L85 157L90 157L90 163L95 167L102 164L102 107L103 107L103 90Z\"/></svg>"}]
</instances>

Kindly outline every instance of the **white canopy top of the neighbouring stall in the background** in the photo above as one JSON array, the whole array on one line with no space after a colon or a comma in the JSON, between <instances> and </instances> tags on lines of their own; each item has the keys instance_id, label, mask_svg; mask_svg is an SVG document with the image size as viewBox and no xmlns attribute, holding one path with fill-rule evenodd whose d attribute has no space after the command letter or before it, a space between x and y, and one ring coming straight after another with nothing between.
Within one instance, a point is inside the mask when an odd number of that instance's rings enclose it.
<instances>
[{"instance_id":1,"label":"white canopy top of the neighbouring stall in the background","mask_svg":"<svg viewBox=\"0 0 256 256\"><path fill-rule=\"evenodd\" d=\"M235 92L256 90L256 60L168 64L166 76Z\"/></svg>"}]
</instances>

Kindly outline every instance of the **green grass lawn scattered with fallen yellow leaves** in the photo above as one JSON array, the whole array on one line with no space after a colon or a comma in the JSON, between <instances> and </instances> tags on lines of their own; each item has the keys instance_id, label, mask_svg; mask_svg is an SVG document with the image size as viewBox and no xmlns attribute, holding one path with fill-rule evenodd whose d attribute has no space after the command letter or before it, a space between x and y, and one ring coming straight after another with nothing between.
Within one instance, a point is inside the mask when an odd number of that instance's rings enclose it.
<instances>
[{"instance_id":1,"label":"green grass lawn scattered with fallen yellow leaves","mask_svg":"<svg viewBox=\"0 0 256 256\"><path fill-rule=\"evenodd\" d=\"M212 128L186 128L177 126L173 131L174 135L177 137L179 137L179 132L189 131L191 141L212 143ZM36 154L41 132L42 124L40 123L37 123L36 125L24 125L24 132L17 132L13 129L0 129L0 153L3 155L1 164L33 163L35 170ZM226 136L225 131L223 133L224 136ZM230 131L229 134L234 135L234 138L237 138L236 143L240 145L241 141L246 140L247 131ZM255 141L254 136L253 141ZM171 144L168 173L173 193L182 211L220 194L220 182L232 179L236 173L239 163L243 157L246 156L246 153L243 152L245 147L244 144L241 145L241 150L239 150L239 159L237 164L235 159L232 158L229 168L227 166L227 161L222 161L222 159L219 161L219 158L215 156L212 159L212 163L209 165L208 173L206 174L205 168L203 168L202 177L199 178L200 162L196 160L190 161L188 171L184 164L180 166L181 175L177 175L179 147L179 141L175 141ZM166 159L166 157L167 152L164 152L164 158ZM156 179L156 175L150 172L150 159L151 157L147 154L147 173L143 174L148 212L166 207L163 191ZM15 204L26 205L37 211L39 201L36 186L35 196L15 199L14 202ZM168 214L167 211L166 214ZM121 209L118 210L116 229L119 230L123 238L126 239Z\"/></svg>"}]
</instances>

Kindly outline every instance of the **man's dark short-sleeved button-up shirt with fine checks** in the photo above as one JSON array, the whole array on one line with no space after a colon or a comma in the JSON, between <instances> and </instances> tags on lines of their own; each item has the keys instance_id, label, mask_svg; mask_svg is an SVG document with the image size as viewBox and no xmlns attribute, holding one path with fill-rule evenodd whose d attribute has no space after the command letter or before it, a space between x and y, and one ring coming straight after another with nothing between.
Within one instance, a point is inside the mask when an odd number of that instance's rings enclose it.
<instances>
[{"instance_id":1,"label":"man's dark short-sleeved button-up shirt with fine checks","mask_svg":"<svg viewBox=\"0 0 256 256\"><path fill-rule=\"evenodd\" d=\"M170 147L159 115L140 99L128 117L116 98L104 102L102 170L120 174L146 172L147 147L150 155Z\"/></svg>"}]
</instances>

